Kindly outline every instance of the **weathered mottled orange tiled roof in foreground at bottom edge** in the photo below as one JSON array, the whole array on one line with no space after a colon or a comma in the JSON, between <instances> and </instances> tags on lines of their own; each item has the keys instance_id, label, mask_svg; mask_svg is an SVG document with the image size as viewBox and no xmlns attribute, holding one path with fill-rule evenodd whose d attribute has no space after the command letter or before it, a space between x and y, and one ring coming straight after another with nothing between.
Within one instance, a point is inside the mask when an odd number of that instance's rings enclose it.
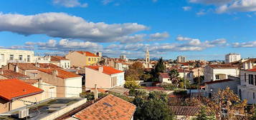
<instances>
[{"instance_id":1,"label":"weathered mottled orange tiled roof in foreground at bottom edge","mask_svg":"<svg viewBox=\"0 0 256 120\"><path fill-rule=\"evenodd\" d=\"M74 116L80 120L130 120L135 111L135 105L109 94Z\"/></svg>"}]
</instances>

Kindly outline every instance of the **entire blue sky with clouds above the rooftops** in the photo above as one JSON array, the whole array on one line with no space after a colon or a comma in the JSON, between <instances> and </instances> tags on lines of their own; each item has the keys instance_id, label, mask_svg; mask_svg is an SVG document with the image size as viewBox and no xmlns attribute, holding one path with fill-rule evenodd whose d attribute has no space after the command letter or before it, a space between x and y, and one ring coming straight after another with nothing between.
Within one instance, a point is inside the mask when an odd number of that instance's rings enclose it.
<instances>
[{"instance_id":1,"label":"entire blue sky with clouds above the rooftops","mask_svg":"<svg viewBox=\"0 0 256 120\"><path fill-rule=\"evenodd\" d=\"M254 0L0 1L0 46L174 59L256 57Z\"/></svg>"}]
</instances>

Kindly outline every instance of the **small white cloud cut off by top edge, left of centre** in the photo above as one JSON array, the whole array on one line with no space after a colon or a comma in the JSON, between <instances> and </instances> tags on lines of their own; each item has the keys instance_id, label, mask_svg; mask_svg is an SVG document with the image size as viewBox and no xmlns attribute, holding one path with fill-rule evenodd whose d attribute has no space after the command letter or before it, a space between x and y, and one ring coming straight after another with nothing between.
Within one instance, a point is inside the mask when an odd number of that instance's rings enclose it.
<instances>
[{"instance_id":1,"label":"small white cloud cut off by top edge, left of centre","mask_svg":"<svg viewBox=\"0 0 256 120\"><path fill-rule=\"evenodd\" d=\"M65 6L68 8L87 7L88 6L87 3L82 4L78 0L53 0L52 2L53 2L53 4L58 4L58 5Z\"/></svg>"}]
</instances>

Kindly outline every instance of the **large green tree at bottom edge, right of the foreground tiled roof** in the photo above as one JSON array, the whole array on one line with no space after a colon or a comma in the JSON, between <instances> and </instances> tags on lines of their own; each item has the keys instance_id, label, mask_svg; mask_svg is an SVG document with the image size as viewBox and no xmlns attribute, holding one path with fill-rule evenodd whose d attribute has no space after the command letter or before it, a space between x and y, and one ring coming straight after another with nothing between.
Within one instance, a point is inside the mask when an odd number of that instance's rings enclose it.
<instances>
[{"instance_id":1,"label":"large green tree at bottom edge, right of the foreground tiled roof","mask_svg":"<svg viewBox=\"0 0 256 120\"><path fill-rule=\"evenodd\" d=\"M136 120L171 120L174 116L167 104L167 95L161 91L153 91L145 95L138 95L133 100L137 106L134 119Z\"/></svg>"}]
</instances>

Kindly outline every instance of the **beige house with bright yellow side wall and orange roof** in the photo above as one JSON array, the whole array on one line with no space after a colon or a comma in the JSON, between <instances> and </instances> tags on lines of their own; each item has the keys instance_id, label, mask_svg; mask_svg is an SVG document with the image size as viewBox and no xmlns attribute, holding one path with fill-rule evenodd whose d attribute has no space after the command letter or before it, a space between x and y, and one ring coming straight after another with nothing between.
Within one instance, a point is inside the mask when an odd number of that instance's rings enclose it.
<instances>
[{"instance_id":1,"label":"beige house with bright yellow side wall and orange roof","mask_svg":"<svg viewBox=\"0 0 256 120\"><path fill-rule=\"evenodd\" d=\"M100 56L89 51L70 51L65 58L70 60L71 66L80 67L97 64L100 61Z\"/></svg>"}]
</instances>

